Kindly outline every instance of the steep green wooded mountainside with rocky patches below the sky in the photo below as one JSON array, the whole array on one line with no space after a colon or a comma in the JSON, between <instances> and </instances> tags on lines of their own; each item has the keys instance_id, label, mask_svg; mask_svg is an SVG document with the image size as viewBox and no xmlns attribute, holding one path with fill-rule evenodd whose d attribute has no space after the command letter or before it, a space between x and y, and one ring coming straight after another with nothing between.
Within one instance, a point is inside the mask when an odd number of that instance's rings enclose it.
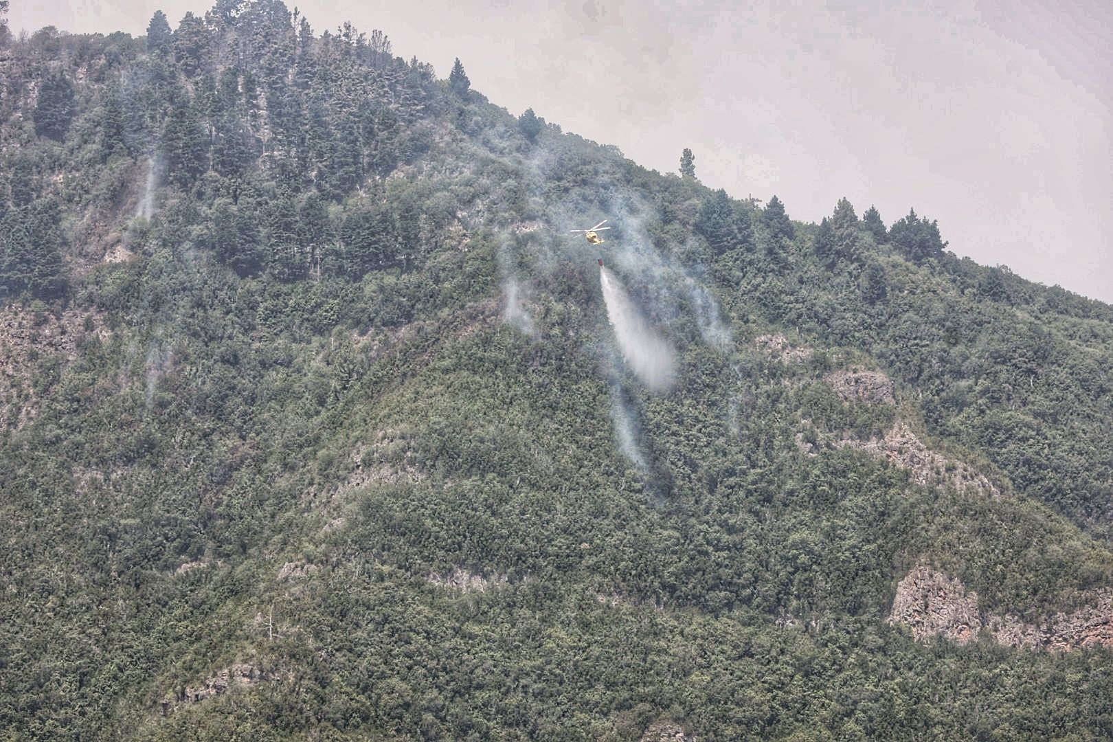
<instances>
[{"instance_id":1,"label":"steep green wooded mountainside with rocky patches below the sky","mask_svg":"<svg viewBox=\"0 0 1113 742\"><path fill-rule=\"evenodd\" d=\"M0 735L1113 736L1113 308L684 170L270 0L0 36Z\"/></svg>"}]
</instances>

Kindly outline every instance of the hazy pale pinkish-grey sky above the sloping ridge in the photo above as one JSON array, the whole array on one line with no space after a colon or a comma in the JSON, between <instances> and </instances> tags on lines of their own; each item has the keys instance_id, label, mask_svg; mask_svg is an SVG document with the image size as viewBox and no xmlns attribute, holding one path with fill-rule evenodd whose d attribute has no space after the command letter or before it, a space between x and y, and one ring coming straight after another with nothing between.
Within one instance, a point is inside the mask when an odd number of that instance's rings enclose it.
<instances>
[{"instance_id":1,"label":"hazy pale pinkish-grey sky above the sloping ridge","mask_svg":"<svg viewBox=\"0 0 1113 742\"><path fill-rule=\"evenodd\" d=\"M14 29L146 32L197 0L12 0ZM949 249L1113 301L1113 3L367 0L351 20L513 113L817 221L915 207Z\"/></svg>"}]
</instances>

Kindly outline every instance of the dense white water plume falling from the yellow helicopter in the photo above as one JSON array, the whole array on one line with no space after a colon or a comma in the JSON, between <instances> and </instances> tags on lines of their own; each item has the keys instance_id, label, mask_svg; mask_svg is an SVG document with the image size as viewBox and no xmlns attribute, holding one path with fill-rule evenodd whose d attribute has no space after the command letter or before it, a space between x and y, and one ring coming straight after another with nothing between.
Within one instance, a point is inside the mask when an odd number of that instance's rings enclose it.
<instances>
[{"instance_id":1,"label":"dense white water plume falling from the yellow helicopter","mask_svg":"<svg viewBox=\"0 0 1113 742\"><path fill-rule=\"evenodd\" d=\"M633 305L622 283L605 267L599 269L607 317L627 365L654 392L668 389L676 377L676 353Z\"/></svg>"}]
</instances>

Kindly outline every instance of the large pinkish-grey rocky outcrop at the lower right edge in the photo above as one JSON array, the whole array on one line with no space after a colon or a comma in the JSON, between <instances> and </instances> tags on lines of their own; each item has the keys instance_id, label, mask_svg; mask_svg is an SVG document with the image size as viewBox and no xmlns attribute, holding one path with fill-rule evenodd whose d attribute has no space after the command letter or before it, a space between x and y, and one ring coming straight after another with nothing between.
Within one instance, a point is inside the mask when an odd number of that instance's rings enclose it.
<instances>
[{"instance_id":1,"label":"large pinkish-grey rocky outcrop at the lower right edge","mask_svg":"<svg viewBox=\"0 0 1113 742\"><path fill-rule=\"evenodd\" d=\"M987 633L998 644L1030 650L1113 649L1113 591L1099 593L1091 605L1056 613L1035 625L1016 614L979 610L977 593L967 591L959 580L918 564L897 583L888 622L908 626L919 641L942 635L965 644Z\"/></svg>"}]
</instances>

